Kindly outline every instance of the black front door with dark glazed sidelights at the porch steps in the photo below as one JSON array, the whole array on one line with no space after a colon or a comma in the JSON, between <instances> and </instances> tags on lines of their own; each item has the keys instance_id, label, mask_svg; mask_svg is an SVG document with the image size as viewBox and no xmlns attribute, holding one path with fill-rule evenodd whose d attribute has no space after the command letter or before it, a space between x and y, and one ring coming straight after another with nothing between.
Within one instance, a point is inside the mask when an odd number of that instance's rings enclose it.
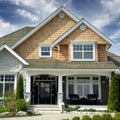
<instances>
[{"instance_id":1,"label":"black front door with dark glazed sidelights at the porch steps","mask_svg":"<svg viewBox=\"0 0 120 120\"><path fill-rule=\"evenodd\" d=\"M34 80L32 88L32 104L56 104L56 81Z\"/></svg>"}]
</instances>

